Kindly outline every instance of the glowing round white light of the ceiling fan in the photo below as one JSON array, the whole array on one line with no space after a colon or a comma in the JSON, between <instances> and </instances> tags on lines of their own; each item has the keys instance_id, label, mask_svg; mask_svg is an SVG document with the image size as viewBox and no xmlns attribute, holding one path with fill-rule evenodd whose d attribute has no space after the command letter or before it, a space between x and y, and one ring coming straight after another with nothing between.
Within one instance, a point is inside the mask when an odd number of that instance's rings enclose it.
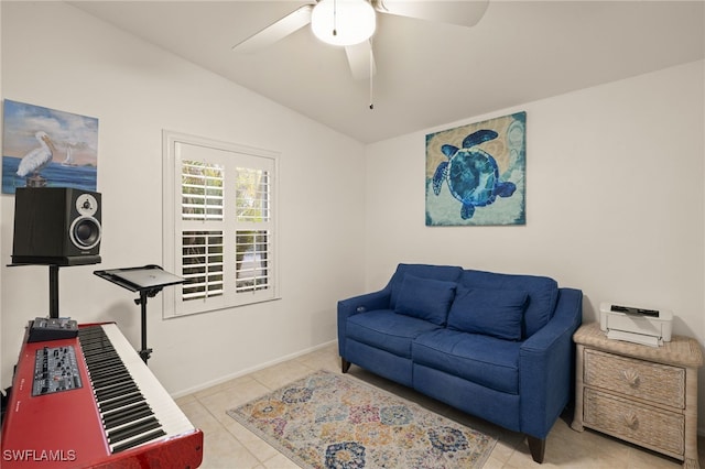
<instances>
[{"instance_id":1,"label":"glowing round white light of the ceiling fan","mask_svg":"<svg viewBox=\"0 0 705 469\"><path fill-rule=\"evenodd\" d=\"M321 0L311 13L311 29L332 45L354 45L375 34L377 15L366 0Z\"/></svg>"}]
</instances>

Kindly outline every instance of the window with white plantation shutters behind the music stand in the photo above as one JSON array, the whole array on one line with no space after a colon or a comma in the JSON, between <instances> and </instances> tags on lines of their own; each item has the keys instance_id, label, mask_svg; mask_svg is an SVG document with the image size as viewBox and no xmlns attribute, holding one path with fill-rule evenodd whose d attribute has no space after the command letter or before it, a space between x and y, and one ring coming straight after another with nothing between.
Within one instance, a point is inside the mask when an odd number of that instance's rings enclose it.
<instances>
[{"instance_id":1,"label":"window with white plantation shutters behind the music stand","mask_svg":"<svg viewBox=\"0 0 705 469\"><path fill-rule=\"evenodd\" d=\"M164 131L164 317L278 298L278 155Z\"/></svg>"}]
</instances>

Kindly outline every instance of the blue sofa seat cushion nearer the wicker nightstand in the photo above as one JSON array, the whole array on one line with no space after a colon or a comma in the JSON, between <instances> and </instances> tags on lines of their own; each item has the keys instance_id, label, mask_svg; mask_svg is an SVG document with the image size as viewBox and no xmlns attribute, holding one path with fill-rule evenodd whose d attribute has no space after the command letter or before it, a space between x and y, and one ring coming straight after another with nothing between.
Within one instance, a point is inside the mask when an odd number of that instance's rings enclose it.
<instances>
[{"instance_id":1,"label":"blue sofa seat cushion nearer the wicker nightstand","mask_svg":"<svg viewBox=\"0 0 705 469\"><path fill-rule=\"evenodd\" d=\"M424 364L496 391L519 394L521 342L438 329L413 342L414 363Z\"/></svg>"}]
</instances>

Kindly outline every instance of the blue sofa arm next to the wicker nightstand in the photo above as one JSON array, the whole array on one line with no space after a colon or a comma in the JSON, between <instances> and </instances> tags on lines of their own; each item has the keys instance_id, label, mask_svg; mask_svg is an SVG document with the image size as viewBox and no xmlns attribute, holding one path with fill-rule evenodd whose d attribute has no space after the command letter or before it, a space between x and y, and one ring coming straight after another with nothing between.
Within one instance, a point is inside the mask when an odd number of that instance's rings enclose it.
<instances>
[{"instance_id":1,"label":"blue sofa arm next to the wicker nightstand","mask_svg":"<svg viewBox=\"0 0 705 469\"><path fill-rule=\"evenodd\" d=\"M572 396L573 334L583 323L583 292L560 288L556 309L519 351L521 430L545 438Z\"/></svg>"}]
</instances>

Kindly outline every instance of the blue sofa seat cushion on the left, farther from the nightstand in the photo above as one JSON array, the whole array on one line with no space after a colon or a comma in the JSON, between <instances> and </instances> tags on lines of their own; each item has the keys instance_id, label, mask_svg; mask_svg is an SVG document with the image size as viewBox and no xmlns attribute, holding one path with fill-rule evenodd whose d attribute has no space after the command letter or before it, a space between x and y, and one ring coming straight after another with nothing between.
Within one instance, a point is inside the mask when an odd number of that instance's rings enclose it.
<instances>
[{"instance_id":1,"label":"blue sofa seat cushion on the left, farther from the nightstand","mask_svg":"<svg viewBox=\"0 0 705 469\"><path fill-rule=\"evenodd\" d=\"M423 332L440 327L427 320L397 314L391 309L360 313L348 318L347 337L399 357L411 358L411 342Z\"/></svg>"}]
</instances>

